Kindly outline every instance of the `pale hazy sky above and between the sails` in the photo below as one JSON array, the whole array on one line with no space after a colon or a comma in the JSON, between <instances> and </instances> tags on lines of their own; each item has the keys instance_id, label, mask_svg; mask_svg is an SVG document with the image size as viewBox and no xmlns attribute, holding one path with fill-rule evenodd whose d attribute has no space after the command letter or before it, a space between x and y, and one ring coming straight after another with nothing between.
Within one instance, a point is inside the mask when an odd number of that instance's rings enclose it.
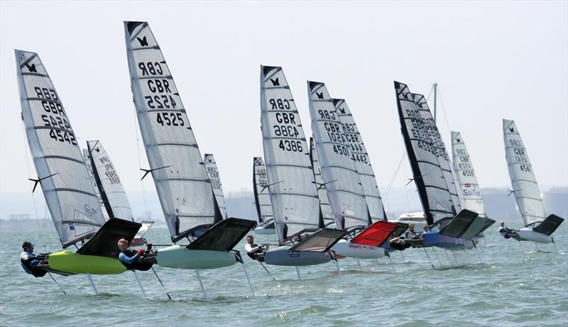
<instances>
[{"instance_id":1,"label":"pale hazy sky above and between the sails","mask_svg":"<svg viewBox=\"0 0 568 327\"><path fill-rule=\"evenodd\" d=\"M510 187L502 118L515 120L541 191L568 185L567 1L1 1L0 192L29 192L36 175L15 48L38 52L82 146L100 140L126 189L155 192L140 182L123 21L150 24L226 193L251 189L263 153L260 65L283 67L306 135L306 80L346 99L383 193L411 177L393 80L425 96L439 84L442 137L461 132L481 187Z\"/></svg>"}]
</instances>

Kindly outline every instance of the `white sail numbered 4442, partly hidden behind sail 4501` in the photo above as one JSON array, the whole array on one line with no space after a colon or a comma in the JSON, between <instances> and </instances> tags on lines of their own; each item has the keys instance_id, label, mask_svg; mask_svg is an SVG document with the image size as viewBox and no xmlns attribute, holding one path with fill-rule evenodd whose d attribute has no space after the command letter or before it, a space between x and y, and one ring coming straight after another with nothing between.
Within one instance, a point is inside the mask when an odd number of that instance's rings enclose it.
<instances>
[{"instance_id":1,"label":"white sail numbered 4442, partly hidden behind sail 4501","mask_svg":"<svg viewBox=\"0 0 568 327\"><path fill-rule=\"evenodd\" d=\"M363 143L359 128L357 128L355 119L344 99L334 99L334 105L337 116L339 116L339 120L342 122L342 131L345 133L351 148L351 158L355 162L357 172L359 172L359 179L361 179L361 186L363 187L371 221L385 221L383 199L381 198L381 192L378 190L375 172L373 172L371 159L368 157L367 148L365 143Z\"/></svg>"}]
</instances>

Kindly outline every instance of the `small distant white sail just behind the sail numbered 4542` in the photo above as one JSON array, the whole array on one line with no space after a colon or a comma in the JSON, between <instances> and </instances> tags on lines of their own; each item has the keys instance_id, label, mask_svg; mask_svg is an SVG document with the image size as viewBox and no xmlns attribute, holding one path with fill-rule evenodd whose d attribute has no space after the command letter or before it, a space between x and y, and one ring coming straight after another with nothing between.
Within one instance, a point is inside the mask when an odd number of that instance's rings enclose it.
<instances>
[{"instance_id":1,"label":"small distant white sail just behind the sail numbered 4542","mask_svg":"<svg viewBox=\"0 0 568 327\"><path fill-rule=\"evenodd\" d=\"M109 218L134 221L129 199L107 151L98 140L87 141L91 167Z\"/></svg>"}]
</instances>

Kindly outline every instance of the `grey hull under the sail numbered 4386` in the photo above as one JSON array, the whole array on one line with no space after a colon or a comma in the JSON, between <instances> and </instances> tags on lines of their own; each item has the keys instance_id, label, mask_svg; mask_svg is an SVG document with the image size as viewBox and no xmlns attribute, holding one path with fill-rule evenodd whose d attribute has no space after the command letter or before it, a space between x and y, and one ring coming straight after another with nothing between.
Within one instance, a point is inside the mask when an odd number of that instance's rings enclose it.
<instances>
[{"instance_id":1,"label":"grey hull under the sail numbered 4386","mask_svg":"<svg viewBox=\"0 0 568 327\"><path fill-rule=\"evenodd\" d=\"M290 251L290 248L275 248L264 253L267 265L278 266L310 266L329 262L331 257L327 252Z\"/></svg>"}]
</instances>

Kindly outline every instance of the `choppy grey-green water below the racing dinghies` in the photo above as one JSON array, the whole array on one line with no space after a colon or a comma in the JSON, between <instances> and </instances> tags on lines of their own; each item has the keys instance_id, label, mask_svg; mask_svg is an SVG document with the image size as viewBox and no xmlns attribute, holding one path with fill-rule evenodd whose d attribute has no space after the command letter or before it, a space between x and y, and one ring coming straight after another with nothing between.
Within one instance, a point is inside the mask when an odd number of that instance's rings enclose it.
<instances>
[{"instance_id":1,"label":"choppy grey-green water below the racing dinghies","mask_svg":"<svg viewBox=\"0 0 568 327\"><path fill-rule=\"evenodd\" d=\"M552 245L519 245L495 230L479 257L458 252L458 265L438 249L444 265L438 267L430 250L436 270L423 250L410 249L404 259L392 255L395 272L388 257L361 260L363 272L354 259L343 259L341 275L329 263L300 268L302 280L294 268L268 266L274 282L246 258L255 296L241 265L200 272L208 300L194 271L156 266L173 301L151 271L139 272L145 296L131 272L94 276L98 296L84 275L55 275L64 295L47 275L26 275L18 261L23 239L33 240L36 252L42 241L48 250L60 248L55 231L0 231L0 326L567 326L568 224L555 233L557 252ZM155 229L148 238L167 243L166 234Z\"/></svg>"}]
</instances>

